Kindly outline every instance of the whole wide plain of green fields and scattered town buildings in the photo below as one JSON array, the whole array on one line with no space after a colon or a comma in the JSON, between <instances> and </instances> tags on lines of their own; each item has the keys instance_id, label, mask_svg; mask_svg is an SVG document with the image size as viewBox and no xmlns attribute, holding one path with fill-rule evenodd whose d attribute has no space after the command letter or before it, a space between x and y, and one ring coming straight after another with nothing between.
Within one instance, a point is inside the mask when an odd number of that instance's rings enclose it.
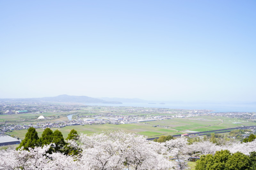
<instances>
[{"instance_id":1,"label":"whole wide plain of green fields and scattered town buildings","mask_svg":"<svg viewBox=\"0 0 256 170\"><path fill-rule=\"evenodd\" d=\"M209 110L49 103L33 104L32 106L20 104L14 105L14 107L5 104L4 106L9 107L13 112L17 109L33 108L34 112L30 111L30 113L0 115L0 123L4 127L1 130L5 130L4 133L13 134L21 139L25 137L28 126L35 125L39 127L36 129L39 136L43 132L43 127L47 126L52 130L60 130L64 137L68 136L71 129L89 135L101 133L103 130L123 129L125 132L136 133L149 138L256 125L256 122L252 119L255 117L255 113L225 114L208 113ZM37 119L41 115L46 119ZM73 115L71 121L68 120L67 115ZM245 119L244 116L251 118L251 120ZM86 121L86 119L90 121ZM19 125L19 128L16 128L15 125ZM10 130L12 127L16 129Z\"/></svg>"}]
</instances>

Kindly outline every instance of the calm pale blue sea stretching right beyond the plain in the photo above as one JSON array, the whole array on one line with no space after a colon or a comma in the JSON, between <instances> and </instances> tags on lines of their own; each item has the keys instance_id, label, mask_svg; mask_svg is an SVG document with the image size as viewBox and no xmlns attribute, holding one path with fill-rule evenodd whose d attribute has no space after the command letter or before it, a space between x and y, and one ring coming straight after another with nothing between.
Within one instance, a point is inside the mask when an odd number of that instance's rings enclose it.
<instances>
[{"instance_id":1,"label":"calm pale blue sea stretching right beyond the plain","mask_svg":"<svg viewBox=\"0 0 256 170\"><path fill-rule=\"evenodd\" d=\"M148 103L123 103L123 104L104 104L104 103L84 103L89 106L133 106L133 107L153 107L153 108L170 108L170 109L209 109L214 112L256 112L256 105L252 104L148 104ZM213 113L214 113L213 112Z\"/></svg>"}]
</instances>

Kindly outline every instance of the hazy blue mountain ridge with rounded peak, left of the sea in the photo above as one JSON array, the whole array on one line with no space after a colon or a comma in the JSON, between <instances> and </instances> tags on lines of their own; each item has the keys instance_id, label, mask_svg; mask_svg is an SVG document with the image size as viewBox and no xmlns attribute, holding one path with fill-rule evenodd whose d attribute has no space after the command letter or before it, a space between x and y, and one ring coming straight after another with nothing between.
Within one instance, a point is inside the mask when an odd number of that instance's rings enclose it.
<instances>
[{"instance_id":1,"label":"hazy blue mountain ridge with rounded peak, left of the sea","mask_svg":"<svg viewBox=\"0 0 256 170\"><path fill-rule=\"evenodd\" d=\"M115 103L122 104L119 101L107 101L97 98L92 98L88 96L69 96L67 94L55 96L55 97L42 97L42 98L25 98L25 99L0 99L0 101L21 101L21 102L35 102L35 101L45 101L45 102L77 102L77 103Z\"/></svg>"}]
</instances>

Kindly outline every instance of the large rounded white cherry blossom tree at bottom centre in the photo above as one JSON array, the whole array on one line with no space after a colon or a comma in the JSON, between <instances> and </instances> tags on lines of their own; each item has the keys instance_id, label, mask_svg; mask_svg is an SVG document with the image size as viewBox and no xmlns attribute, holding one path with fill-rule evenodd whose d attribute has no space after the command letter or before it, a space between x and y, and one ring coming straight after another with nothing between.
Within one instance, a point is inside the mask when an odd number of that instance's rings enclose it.
<instances>
[{"instance_id":1,"label":"large rounded white cherry blossom tree at bottom centre","mask_svg":"<svg viewBox=\"0 0 256 170\"><path fill-rule=\"evenodd\" d=\"M171 169L167 148L145 137L123 130L106 131L92 136L81 135L83 150L80 163L88 169Z\"/></svg>"}]
</instances>

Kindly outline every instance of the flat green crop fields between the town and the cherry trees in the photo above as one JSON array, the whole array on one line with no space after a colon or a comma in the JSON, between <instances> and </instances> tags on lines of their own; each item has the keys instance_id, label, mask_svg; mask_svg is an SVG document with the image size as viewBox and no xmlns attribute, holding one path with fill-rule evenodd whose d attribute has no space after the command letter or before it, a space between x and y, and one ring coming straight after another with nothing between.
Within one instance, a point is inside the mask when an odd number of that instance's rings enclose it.
<instances>
[{"instance_id":1,"label":"flat green crop fields between the town and the cherry trees","mask_svg":"<svg viewBox=\"0 0 256 170\"><path fill-rule=\"evenodd\" d=\"M101 133L103 130L117 130L123 129L128 133L136 133L138 135L143 135L147 137L159 137L161 135L178 135L189 133L189 131L208 131L217 129L226 129L233 127L252 126L256 125L255 122L247 122L240 119L225 119L226 117L221 116L196 116L191 118L173 118L167 120L158 120L150 122L140 122L131 124L92 124L92 125L76 125L76 126L66 126L63 128L52 128L52 130L60 130L63 137L66 138L70 130L75 129L78 134L93 134ZM234 122L240 122L236 124ZM156 126L156 127L155 127ZM40 137L43 129L36 129L38 136ZM188 132L187 132L188 131ZM16 137L24 139L27 129L24 130L14 130L10 132Z\"/></svg>"}]
</instances>

